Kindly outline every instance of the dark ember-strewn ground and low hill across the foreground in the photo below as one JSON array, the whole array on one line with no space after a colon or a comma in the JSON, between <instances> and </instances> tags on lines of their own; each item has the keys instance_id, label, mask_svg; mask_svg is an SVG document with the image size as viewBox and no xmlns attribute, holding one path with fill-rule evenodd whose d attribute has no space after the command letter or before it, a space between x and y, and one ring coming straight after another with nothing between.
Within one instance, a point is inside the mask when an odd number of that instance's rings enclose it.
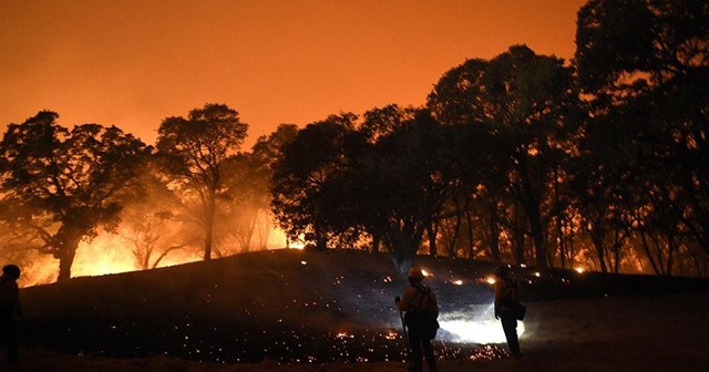
<instances>
[{"instance_id":1,"label":"dark ember-strewn ground and low hill across the foreground","mask_svg":"<svg viewBox=\"0 0 709 372\"><path fill-rule=\"evenodd\" d=\"M433 273L442 317L492 301L490 264L417 265ZM525 356L444 329L441 371L709 371L706 281L518 276ZM404 286L386 255L280 250L28 288L12 370L404 371L392 301Z\"/></svg>"}]
</instances>

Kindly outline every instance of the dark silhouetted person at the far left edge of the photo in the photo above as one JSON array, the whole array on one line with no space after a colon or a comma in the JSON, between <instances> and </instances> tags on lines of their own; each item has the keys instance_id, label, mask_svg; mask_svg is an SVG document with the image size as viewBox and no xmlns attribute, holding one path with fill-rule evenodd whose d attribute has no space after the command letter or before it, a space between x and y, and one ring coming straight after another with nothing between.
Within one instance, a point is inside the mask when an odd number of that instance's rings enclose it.
<instances>
[{"instance_id":1,"label":"dark silhouetted person at the far left edge of the photo","mask_svg":"<svg viewBox=\"0 0 709 372\"><path fill-rule=\"evenodd\" d=\"M18 329L16 317L22 318L20 308L20 268L17 265L6 265L0 276L0 338L7 347L8 363L18 361Z\"/></svg>"}]
</instances>

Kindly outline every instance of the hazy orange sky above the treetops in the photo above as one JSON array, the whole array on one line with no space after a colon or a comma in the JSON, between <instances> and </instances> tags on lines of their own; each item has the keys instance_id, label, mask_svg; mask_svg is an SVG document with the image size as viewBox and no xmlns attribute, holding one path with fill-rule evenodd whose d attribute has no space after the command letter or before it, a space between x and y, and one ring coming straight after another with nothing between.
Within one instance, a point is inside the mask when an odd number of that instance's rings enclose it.
<instances>
[{"instance_id":1,"label":"hazy orange sky above the treetops","mask_svg":"<svg viewBox=\"0 0 709 372\"><path fill-rule=\"evenodd\" d=\"M153 144L226 103L246 148L280 123L423 104L469 58L526 43L569 59L585 0L3 0L0 130L40 110Z\"/></svg>"}]
</instances>

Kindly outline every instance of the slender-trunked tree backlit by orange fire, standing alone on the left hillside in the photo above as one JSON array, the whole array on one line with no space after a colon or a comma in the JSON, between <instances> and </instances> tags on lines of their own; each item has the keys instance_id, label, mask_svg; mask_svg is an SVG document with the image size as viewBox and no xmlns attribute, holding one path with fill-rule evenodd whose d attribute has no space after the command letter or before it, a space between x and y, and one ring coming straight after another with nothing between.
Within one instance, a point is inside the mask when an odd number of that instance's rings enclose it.
<instances>
[{"instance_id":1,"label":"slender-trunked tree backlit by orange fire, standing alone on the left hillside","mask_svg":"<svg viewBox=\"0 0 709 372\"><path fill-rule=\"evenodd\" d=\"M167 117L158 130L163 173L204 228L205 260L212 259L217 197L225 186L222 166L240 149L247 130L238 113L224 104L206 104L186 118Z\"/></svg>"}]
</instances>

